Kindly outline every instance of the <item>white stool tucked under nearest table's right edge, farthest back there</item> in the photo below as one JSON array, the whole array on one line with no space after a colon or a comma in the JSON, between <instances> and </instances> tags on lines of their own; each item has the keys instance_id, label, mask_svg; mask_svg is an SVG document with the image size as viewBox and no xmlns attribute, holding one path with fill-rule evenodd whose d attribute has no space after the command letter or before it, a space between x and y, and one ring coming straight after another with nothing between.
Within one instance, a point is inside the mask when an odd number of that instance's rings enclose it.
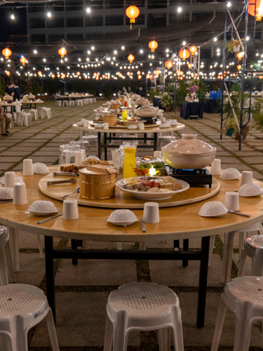
<instances>
[{"instance_id":1,"label":"white stool tucked under nearest table's right edge, farthest back there","mask_svg":"<svg viewBox=\"0 0 263 351\"><path fill-rule=\"evenodd\" d=\"M223 253L223 268L222 268L222 276L221 282L228 283L230 282L231 276L231 267L232 267L232 257L233 257L233 249L234 249L234 235L239 233L241 240L239 242L239 247L243 247L243 234L245 233L245 237L251 236L251 232L257 231L258 234L263 234L263 228L261 223L256 223L255 225L250 225L250 227L245 227L241 230L236 230L235 232L229 232L224 234L224 253ZM214 240L213 237L210 239ZM211 241L211 240L210 240ZM210 246L211 247L211 246Z\"/></svg>"}]
</instances>

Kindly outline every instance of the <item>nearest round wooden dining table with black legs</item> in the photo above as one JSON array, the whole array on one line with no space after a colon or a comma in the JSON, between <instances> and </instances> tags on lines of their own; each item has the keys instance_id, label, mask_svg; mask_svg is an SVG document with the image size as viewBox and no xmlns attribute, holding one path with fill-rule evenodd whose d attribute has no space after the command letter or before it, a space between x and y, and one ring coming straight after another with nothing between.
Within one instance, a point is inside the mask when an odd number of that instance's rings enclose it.
<instances>
[{"instance_id":1,"label":"nearest round wooden dining table with black legs","mask_svg":"<svg viewBox=\"0 0 263 351\"><path fill-rule=\"evenodd\" d=\"M57 172L58 166L50 166L50 173ZM237 216L227 213L222 217L204 218L198 216L201 206L207 201L198 201L191 204L189 196L189 204L184 206L175 206L168 208L160 208L160 221L156 224L145 223L146 232L142 232L140 216L143 215L142 208L135 209L133 212L138 222L128 227L117 227L111 223L107 223L112 208L98 208L93 206L79 205L79 219L64 220L62 216L48 220L46 223L38 224L43 217L34 216L27 211L29 206L36 200L52 201L58 212L62 212L62 198L52 199L39 190L39 181L43 176L22 176L17 173L26 184L28 204L16 206L12 202L1 204L0 202L0 221L2 225L22 230L25 232L33 232L45 236L46 249L46 291L48 302L53 309L55 317L55 277L54 277L54 259L67 258L77 260L78 258L86 259L114 259L114 260L182 260L187 265L188 260L199 260L199 282L198 282L198 306L196 325L201 328L204 326L205 319L205 298L208 276L208 254L210 247L210 236L222 234L226 232L234 232L243 227L259 223L263 220L263 196L259 197L239 197L239 209L242 213L247 213L250 217ZM69 176L70 177L70 176ZM221 201L224 203L225 193L227 191L237 191L240 187L241 180L222 180L219 176L214 176L220 183L219 191L209 199L209 201ZM67 178L67 177L66 177ZM218 183L217 182L217 183ZM263 189L263 183L254 180ZM61 184L61 188L65 190L65 194L74 191L75 185ZM50 189L52 185L50 185ZM190 188L191 191L194 187ZM188 190L187 190L188 191ZM187 196L187 191L185 192ZM198 191L198 187L196 187ZM190 190L189 190L190 194ZM72 195L74 196L74 194ZM71 198L69 195L68 199ZM98 200L99 201L99 200ZM83 250L54 249L53 237L62 237L73 240L87 241L161 241L179 239L201 238L201 250L188 251L187 245L183 250L170 251L116 251L116 250ZM121 270L121 265L120 265ZM176 272L170 272L176 274Z\"/></svg>"}]
</instances>

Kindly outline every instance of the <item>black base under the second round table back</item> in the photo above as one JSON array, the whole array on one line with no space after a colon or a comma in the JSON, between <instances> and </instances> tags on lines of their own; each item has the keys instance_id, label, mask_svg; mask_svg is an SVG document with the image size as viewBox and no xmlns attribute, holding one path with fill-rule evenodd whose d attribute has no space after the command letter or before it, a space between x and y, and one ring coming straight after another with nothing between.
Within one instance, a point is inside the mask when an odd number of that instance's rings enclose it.
<instances>
[{"instance_id":1,"label":"black base under the second round table back","mask_svg":"<svg viewBox=\"0 0 263 351\"><path fill-rule=\"evenodd\" d=\"M126 130L123 133L129 133L130 131L132 131L131 129ZM136 133L136 131L135 131ZM144 137L143 138L126 138L124 136L121 136L120 138L116 138L114 136L114 133L109 133L109 136L107 136L107 133L104 133L104 144L101 143L101 134L102 133L97 133L97 148L98 148L98 155L97 157L99 157L99 159L101 159L101 149L104 149L104 157L105 157L105 161L107 161L107 149L108 148L116 148L119 147L120 145L111 145L111 144L107 144L107 141L109 141L109 143L112 142L112 140L143 140L144 145L137 145L137 149L154 149L154 151L157 150L157 133L154 133L154 138L148 138L147 137L147 132L144 133ZM146 145L147 140L154 140L154 145Z\"/></svg>"}]
</instances>

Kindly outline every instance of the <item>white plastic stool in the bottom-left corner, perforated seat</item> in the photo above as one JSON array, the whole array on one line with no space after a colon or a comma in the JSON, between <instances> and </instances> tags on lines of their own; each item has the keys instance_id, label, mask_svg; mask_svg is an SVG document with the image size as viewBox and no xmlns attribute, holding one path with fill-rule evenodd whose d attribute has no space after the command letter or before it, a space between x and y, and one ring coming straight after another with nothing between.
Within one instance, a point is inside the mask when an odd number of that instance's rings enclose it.
<instances>
[{"instance_id":1,"label":"white plastic stool in the bottom-left corner, perforated seat","mask_svg":"<svg viewBox=\"0 0 263 351\"><path fill-rule=\"evenodd\" d=\"M11 284L0 287L1 350L28 351L27 333L45 317L53 351L59 351L48 300L36 286Z\"/></svg>"}]
</instances>

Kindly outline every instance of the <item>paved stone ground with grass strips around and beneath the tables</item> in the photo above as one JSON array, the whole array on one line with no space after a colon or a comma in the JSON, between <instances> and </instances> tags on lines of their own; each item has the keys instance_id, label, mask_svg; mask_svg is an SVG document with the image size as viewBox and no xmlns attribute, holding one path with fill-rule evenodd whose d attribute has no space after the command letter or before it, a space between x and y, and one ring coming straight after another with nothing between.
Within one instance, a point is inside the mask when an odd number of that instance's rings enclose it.
<instances>
[{"instance_id":1,"label":"paved stone ground with grass strips around and beneath the tables","mask_svg":"<svg viewBox=\"0 0 263 351\"><path fill-rule=\"evenodd\" d=\"M93 110L102 101L85 107L55 107L55 102L45 102L52 107L52 119L34 121L29 127L11 129L11 136L0 138L0 175L7 170L21 170L22 160L32 158L47 165L57 164L59 146L79 138L79 132L72 124L81 118L93 119ZM179 114L166 113L168 118L177 118L185 124L184 133L196 133L198 138L217 147L217 158L222 161L222 168L234 167L240 171L251 170L254 177L263 180L263 141L262 133L250 130L248 138L238 150L234 138L224 136L220 139L220 117L216 114L204 114L203 119L182 120ZM179 133L175 133L179 137ZM139 154L149 154L149 151ZM90 154L95 154L92 146ZM110 157L110 155L109 155ZM41 238L43 243L43 237ZM116 260L79 260L79 265L72 265L70 260L58 261L55 275L57 313L56 324L61 351L102 351L105 306L110 291L116 286L128 282L147 281L170 286L177 292L182 309L184 345L186 351L210 350L217 308L223 284L220 282L222 270L223 237L217 237L213 251L212 264L208 270L208 294L205 314L205 327L196 328L196 300L198 286L198 264L189 261L188 267L182 267L179 261L120 261ZM55 238L55 245L69 248L70 241ZM191 249L199 248L200 239L190 240ZM45 289L45 265L39 257L36 236L20 232L21 270L16 273L18 283L33 284ZM236 277L238 267L238 237L234 241L234 260L231 277ZM116 243L90 242L90 249L117 249ZM173 249L173 242L149 242L147 249ZM123 243L123 249L137 249L137 244ZM250 273L248 260L245 274ZM235 317L227 312L220 351L233 350ZM253 324L250 338L250 350L261 350L261 326ZM51 350L48 333L44 322L29 333L29 351ZM128 351L157 351L155 332L131 333L128 339ZM173 350L173 348L172 348Z\"/></svg>"}]
</instances>

